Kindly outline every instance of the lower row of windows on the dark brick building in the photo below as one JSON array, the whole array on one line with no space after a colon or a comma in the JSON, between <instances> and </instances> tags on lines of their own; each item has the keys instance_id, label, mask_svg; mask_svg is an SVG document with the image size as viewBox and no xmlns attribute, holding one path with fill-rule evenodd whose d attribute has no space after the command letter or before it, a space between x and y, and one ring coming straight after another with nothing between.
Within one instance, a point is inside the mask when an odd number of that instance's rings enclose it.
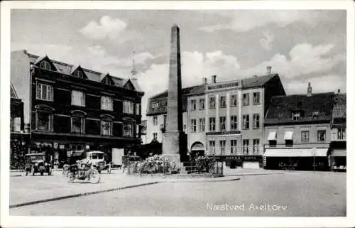
<instances>
[{"instance_id":1,"label":"lower row of windows on the dark brick building","mask_svg":"<svg viewBox=\"0 0 355 228\"><path fill-rule=\"evenodd\" d=\"M36 113L36 130L38 131L53 131L53 114L48 112L37 112ZM134 131L133 124L124 124L123 126L123 136L133 137ZM101 135L112 136L113 122L108 119L101 120ZM82 116L71 116L70 118L70 128L72 133L84 134L85 133L85 118Z\"/></svg>"}]
</instances>

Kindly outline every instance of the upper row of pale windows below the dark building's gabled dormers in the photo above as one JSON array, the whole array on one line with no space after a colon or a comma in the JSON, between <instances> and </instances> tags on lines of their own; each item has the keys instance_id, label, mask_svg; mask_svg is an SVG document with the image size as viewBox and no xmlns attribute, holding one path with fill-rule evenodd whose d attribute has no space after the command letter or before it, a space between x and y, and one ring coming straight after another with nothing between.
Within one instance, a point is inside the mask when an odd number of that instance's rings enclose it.
<instances>
[{"instance_id":1,"label":"upper row of pale windows below the dark building's gabled dormers","mask_svg":"<svg viewBox=\"0 0 355 228\"><path fill-rule=\"evenodd\" d=\"M50 85L45 85L42 83L37 84L37 99L53 102L53 87ZM82 91L72 90L72 105L85 107L85 94ZM102 96L101 97L101 109L113 111L114 110L114 99L112 97ZM124 101L123 112L126 114L134 113L134 103L129 101ZM141 104L136 104L136 114L141 114Z\"/></svg>"}]
</instances>

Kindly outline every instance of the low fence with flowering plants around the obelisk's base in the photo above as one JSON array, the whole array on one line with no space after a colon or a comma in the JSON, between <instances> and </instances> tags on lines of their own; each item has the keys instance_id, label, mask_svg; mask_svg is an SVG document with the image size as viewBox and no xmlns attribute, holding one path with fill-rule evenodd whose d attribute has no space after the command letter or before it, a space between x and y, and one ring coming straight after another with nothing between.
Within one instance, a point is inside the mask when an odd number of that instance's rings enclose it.
<instances>
[{"instance_id":1,"label":"low fence with flowering plants around the obelisk's base","mask_svg":"<svg viewBox=\"0 0 355 228\"><path fill-rule=\"evenodd\" d=\"M124 167L124 172L128 175L191 175L191 176L222 176L223 163L214 161L210 168L201 167L196 162L184 162L179 164L171 163L142 163L139 161L129 161Z\"/></svg>"}]
</instances>

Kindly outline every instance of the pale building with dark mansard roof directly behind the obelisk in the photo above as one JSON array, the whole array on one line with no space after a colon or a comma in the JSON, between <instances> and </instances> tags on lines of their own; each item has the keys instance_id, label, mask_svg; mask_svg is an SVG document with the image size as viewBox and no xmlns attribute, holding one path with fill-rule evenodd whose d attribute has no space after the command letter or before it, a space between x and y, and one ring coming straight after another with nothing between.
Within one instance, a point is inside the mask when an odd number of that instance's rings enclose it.
<instances>
[{"instance_id":1,"label":"pale building with dark mansard roof directly behind the obelisk","mask_svg":"<svg viewBox=\"0 0 355 228\"><path fill-rule=\"evenodd\" d=\"M186 133L186 109L187 97L191 89L199 86L187 87L182 89L182 123L183 130ZM162 143L163 133L165 132L166 118L167 118L167 102L168 91L156 94L148 99L148 107L146 111L146 143L151 141L158 141Z\"/></svg>"}]
</instances>

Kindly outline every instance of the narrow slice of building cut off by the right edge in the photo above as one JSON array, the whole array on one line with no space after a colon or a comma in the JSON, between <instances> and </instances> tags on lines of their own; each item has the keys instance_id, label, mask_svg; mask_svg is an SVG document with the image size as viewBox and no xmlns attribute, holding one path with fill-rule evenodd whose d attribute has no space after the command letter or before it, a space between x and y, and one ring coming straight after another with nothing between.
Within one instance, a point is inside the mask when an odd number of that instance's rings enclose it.
<instances>
[{"instance_id":1,"label":"narrow slice of building cut off by the right edge","mask_svg":"<svg viewBox=\"0 0 355 228\"><path fill-rule=\"evenodd\" d=\"M334 94L332 122L330 124L330 168L346 169L346 94Z\"/></svg>"}]
</instances>

